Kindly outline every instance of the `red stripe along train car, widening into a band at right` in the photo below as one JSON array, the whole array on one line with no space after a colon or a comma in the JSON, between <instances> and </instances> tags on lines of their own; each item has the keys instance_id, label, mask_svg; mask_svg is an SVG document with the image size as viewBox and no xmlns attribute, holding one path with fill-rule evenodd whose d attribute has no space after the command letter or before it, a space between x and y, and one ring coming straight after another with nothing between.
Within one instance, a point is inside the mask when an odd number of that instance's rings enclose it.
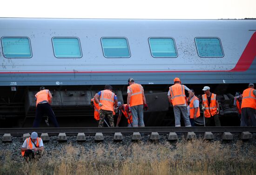
<instances>
[{"instance_id":1,"label":"red stripe along train car, widening into a band at right","mask_svg":"<svg viewBox=\"0 0 256 175\"><path fill-rule=\"evenodd\" d=\"M256 32L250 38L248 44L236 66L231 70L168 70L168 71L67 71L67 72L0 72L0 74L74 74L74 73L164 73L164 72L243 72L249 69L256 57Z\"/></svg>"}]
</instances>

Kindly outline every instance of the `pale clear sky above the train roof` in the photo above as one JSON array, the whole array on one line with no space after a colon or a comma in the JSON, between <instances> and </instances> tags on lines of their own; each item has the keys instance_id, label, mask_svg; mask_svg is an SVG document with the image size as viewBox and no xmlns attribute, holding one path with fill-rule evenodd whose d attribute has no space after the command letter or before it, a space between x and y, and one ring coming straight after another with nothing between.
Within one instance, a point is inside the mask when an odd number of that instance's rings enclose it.
<instances>
[{"instance_id":1,"label":"pale clear sky above the train roof","mask_svg":"<svg viewBox=\"0 0 256 175\"><path fill-rule=\"evenodd\" d=\"M256 18L256 0L1 0L0 6L0 17L20 18Z\"/></svg>"}]
</instances>

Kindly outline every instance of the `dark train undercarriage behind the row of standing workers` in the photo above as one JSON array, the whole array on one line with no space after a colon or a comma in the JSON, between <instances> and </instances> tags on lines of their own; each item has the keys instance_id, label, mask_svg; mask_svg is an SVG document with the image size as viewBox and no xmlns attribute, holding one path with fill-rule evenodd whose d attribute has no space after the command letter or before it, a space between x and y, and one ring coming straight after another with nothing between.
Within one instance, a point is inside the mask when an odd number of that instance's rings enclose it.
<instances>
[{"instance_id":1,"label":"dark train undercarriage behind the row of standing workers","mask_svg":"<svg viewBox=\"0 0 256 175\"><path fill-rule=\"evenodd\" d=\"M144 112L146 126L174 126L173 107L168 103L167 92L170 85L142 85L149 110ZM195 90L200 97L203 84L186 84ZM220 120L222 126L240 125L240 119L233 105L234 94L243 92L247 84L210 84L207 85L212 93L217 94L220 104ZM49 86L53 94L52 108L61 127L96 127L93 117L94 108L90 105L94 94L104 89L102 85L94 86ZM32 127L35 117L35 98L39 87L0 87L0 128ZM127 85L114 85L113 92L122 103L127 100ZM187 94L188 95L188 94ZM202 103L202 102L201 102ZM117 119L115 115L115 123ZM203 114L197 119L196 125L203 125ZM53 126L47 116L41 121L40 127ZM123 117L119 126L127 126Z\"/></svg>"}]
</instances>

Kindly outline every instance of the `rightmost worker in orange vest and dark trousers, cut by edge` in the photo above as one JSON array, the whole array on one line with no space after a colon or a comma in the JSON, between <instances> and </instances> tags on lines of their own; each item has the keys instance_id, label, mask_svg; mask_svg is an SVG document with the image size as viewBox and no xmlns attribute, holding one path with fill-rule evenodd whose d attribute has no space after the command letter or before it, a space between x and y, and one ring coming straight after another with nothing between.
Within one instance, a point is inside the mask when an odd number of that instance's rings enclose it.
<instances>
[{"instance_id":1,"label":"rightmost worker in orange vest and dark trousers, cut by edge","mask_svg":"<svg viewBox=\"0 0 256 175\"><path fill-rule=\"evenodd\" d=\"M243 91L241 108L241 126L248 126L249 119L252 126L256 126L256 90L253 83L249 83L248 88Z\"/></svg>"}]
</instances>

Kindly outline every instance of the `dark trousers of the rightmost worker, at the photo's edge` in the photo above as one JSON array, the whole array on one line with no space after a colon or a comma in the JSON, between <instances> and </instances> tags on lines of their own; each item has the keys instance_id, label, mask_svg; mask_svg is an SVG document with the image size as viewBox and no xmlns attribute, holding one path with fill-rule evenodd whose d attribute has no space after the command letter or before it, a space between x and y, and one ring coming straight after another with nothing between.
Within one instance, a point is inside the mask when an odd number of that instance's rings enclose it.
<instances>
[{"instance_id":1,"label":"dark trousers of the rightmost worker, at the photo's edge","mask_svg":"<svg viewBox=\"0 0 256 175\"><path fill-rule=\"evenodd\" d=\"M251 107L243 107L241 115L241 126L249 126L249 119L252 126L256 126L256 109Z\"/></svg>"}]
</instances>

